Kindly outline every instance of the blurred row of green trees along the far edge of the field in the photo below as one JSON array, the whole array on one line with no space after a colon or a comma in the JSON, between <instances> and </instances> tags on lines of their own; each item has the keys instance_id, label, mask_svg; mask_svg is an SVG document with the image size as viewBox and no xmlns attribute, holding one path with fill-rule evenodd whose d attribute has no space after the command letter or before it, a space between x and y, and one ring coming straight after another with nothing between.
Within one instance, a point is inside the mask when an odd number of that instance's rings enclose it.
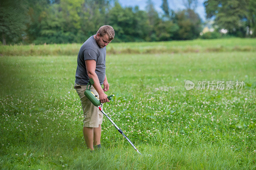
<instances>
[{"instance_id":1,"label":"blurred row of green trees along the far edge of the field","mask_svg":"<svg viewBox=\"0 0 256 170\"><path fill-rule=\"evenodd\" d=\"M207 0L207 18L214 19L215 32L255 37L254 0ZM152 0L145 10L138 6L122 7L116 0L1 0L1 42L13 43L82 43L100 26L112 25L113 42L167 41L196 39L203 23L195 12L197 0L183 0L186 9L173 11L162 0L159 14ZM204 36L207 38L207 36Z\"/></svg>"}]
</instances>

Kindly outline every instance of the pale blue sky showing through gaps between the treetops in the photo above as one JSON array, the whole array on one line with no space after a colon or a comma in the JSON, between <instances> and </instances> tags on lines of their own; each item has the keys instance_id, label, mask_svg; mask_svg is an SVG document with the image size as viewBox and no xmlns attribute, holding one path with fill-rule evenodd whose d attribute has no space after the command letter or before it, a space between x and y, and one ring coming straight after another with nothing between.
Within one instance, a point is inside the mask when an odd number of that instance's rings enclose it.
<instances>
[{"instance_id":1,"label":"pale blue sky showing through gaps between the treetops","mask_svg":"<svg viewBox=\"0 0 256 170\"><path fill-rule=\"evenodd\" d=\"M125 7L125 6L136 6L138 5L140 10L145 10L145 7L147 5L147 0L118 0L119 3ZM198 0L198 6L196 8L196 13L199 14L200 18L205 21L205 9L204 9L204 2L206 0ZM161 5L163 3L162 0L152 0L152 2L155 4L155 9L159 13L163 13L163 10L161 8ZM183 0L168 0L169 8L178 11L185 9L185 6L183 5Z\"/></svg>"}]
</instances>

